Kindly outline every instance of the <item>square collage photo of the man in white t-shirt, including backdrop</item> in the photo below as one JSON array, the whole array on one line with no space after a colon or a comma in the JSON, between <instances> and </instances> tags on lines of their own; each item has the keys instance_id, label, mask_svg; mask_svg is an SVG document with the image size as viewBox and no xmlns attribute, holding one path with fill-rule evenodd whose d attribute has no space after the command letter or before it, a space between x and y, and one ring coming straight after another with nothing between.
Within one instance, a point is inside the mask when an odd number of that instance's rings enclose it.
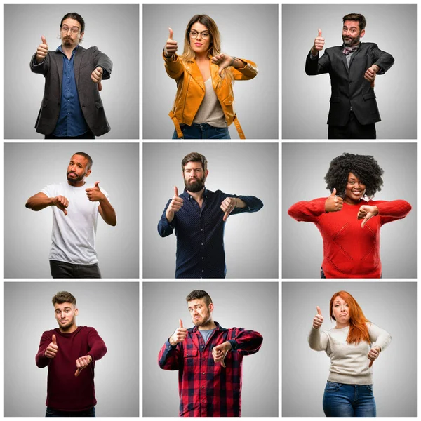
<instances>
[{"instance_id":1,"label":"square collage photo of the man in white t-shirt, including backdrop","mask_svg":"<svg viewBox=\"0 0 421 421\"><path fill-rule=\"evenodd\" d=\"M139 278L137 143L5 143L4 194L4 278Z\"/></svg>"}]
</instances>

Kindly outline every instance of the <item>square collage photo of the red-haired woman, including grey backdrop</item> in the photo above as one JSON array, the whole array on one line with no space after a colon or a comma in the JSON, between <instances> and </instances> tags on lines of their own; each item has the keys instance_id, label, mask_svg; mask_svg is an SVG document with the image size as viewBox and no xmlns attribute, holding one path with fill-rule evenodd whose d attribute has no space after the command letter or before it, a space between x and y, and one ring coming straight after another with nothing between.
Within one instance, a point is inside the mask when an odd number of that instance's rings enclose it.
<instances>
[{"instance_id":1,"label":"square collage photo of the red-haired woman, including grey backdrop","mask_svg":"<svg viewBox=\"0 0 421 421\"><path fill-rule=\"evenodd\" d=\"M417 282L283 282L282 417L417 417L417 328Z\"/></svg>"}]
</instances>

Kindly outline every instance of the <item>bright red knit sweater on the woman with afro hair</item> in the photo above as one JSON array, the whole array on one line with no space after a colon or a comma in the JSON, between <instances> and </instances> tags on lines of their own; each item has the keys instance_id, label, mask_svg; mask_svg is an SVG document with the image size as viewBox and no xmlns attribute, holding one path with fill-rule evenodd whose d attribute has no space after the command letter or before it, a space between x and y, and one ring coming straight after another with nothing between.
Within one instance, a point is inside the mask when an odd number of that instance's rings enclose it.
<instances>
[{"instance_id":1,"label":"bright red knit sweater on the woman with afro hair","mask_svg":"<svg viewBox=\"0 0 421 421\"><path fill-rule=\"evenodd\" d=\"M339 212L326 213L326 197L300 201L288 209L298 221L314 222L323 237L323 272L326 278L380 278L380 227L405 218L411 210L407 201L344 202ZM379 213L361 228L358 210L362 205L377 206Z\"/></svg>"}]
</instances>

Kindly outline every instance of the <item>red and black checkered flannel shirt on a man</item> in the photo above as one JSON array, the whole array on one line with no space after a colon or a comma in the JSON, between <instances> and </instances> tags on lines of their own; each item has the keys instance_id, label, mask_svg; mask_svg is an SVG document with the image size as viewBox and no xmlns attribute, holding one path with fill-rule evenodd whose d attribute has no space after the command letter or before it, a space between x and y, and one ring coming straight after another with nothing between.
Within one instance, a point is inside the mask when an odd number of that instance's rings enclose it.
<instances>
[{"instance_id":1,"label":"red and black checkered flannel shirt on a man","mask_svg":"<svg viewBox=\"0 0 421 421\"><path fill-rule=\"evenodd\" d=\"M243 356L255 354L262 335L243 328L216 329L204 342L197 326L187 329L187 338L172 346L167 340L158 356L163 370L178 370L180 417L240 417ZM213 361L212 349L229 341L232 350L225 366Z\"/></svg>"}]
</instances>

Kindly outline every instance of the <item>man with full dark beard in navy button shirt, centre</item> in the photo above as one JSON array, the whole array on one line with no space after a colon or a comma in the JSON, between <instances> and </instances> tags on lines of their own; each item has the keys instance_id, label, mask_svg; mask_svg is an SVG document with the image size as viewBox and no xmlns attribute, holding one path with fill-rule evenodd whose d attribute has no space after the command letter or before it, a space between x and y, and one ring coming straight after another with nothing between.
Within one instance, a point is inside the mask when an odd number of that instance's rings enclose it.
<instances>
[{"instance_id":1,"label":"man with full dark beard in navy button shirt, centre","mask_svg":"<svg viewBox=\"0 0 421 421\"><path fill-rule=\"evenodd\" d=\"M185 190L168 200L158 224L160 236L177 236L176 278L225 278L224 228L228 215L257 212L255 196L237 196L206 189L208 161L197 152L181 162Z\"/></svg>"}]
</instances>

